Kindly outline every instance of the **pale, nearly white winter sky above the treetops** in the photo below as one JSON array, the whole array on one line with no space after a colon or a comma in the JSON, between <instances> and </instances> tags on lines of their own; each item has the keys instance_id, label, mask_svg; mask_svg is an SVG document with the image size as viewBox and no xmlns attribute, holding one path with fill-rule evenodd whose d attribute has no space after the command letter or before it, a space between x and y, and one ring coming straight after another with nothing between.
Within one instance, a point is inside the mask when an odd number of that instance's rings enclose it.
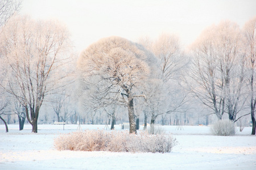
<instances>
[{"instance_id":1,"label":"pale, nearly white winter sky above the treetops","mask_svg":"<svg viewBox=\"0 0 256 170\"><path fill-rule=\"evenodd\" d=\"M204 28L231 20L241 27L256 16L255 0L23 0L21 14L67 24L77 52L102 37L137 41L160 33L191 44Z\"/></svg>"}]
</instances>

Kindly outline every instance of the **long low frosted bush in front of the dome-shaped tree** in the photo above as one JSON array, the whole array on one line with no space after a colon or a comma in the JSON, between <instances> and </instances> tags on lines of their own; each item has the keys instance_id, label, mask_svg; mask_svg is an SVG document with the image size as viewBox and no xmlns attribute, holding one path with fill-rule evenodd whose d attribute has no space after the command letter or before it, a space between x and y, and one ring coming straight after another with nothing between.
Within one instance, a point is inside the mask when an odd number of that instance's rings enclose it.
<instances>
[{"instance_id":1,"label":"long low frosted bush in front of the dome-shaped tree","mask_svg":"<svg viewBox=\"0 0 256 170\"><path fill-rule=\"evenodd\" d=\"M110 152L171 152L176 145L171 135L151 135L147 132L85 130L61 134L55 138L57 150Z\"/></svg>"}]
</instances>

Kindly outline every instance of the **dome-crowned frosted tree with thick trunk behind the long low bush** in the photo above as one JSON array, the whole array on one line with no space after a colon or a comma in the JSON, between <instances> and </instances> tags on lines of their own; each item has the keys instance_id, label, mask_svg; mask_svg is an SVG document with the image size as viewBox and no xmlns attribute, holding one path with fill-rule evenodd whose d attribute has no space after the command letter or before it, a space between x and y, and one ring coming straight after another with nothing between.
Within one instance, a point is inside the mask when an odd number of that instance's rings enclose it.
<instances>
[{"instance_id":1,"label":"dome-crowned frosted tree with thick trunk behind the long low bush","mask_svg":"<svg viewBox=\"0 0 256 170\"><path fill-rule=\"evenodd\" d=\"M125 105L130 133L136 133L134 99L146 99L143 87L152 78L154 63L154 55L139 44L116 36L101 39L80 54L80 91L101 107Z\"/></svg>"}]
</instances>

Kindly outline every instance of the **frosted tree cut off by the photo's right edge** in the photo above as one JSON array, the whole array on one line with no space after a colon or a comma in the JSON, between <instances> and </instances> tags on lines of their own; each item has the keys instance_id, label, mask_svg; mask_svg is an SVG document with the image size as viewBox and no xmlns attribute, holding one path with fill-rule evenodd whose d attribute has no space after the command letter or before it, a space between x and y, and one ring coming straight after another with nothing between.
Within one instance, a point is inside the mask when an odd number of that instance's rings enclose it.
<instances>
[{"instance_id":1,"label":"frosted tree cut off by the photo's right edge","mask_svg":"<svg viewBox=\"0 0 256 170\"><path fill-rule=\"evenodd\" d=\"M250 89L250 114L251 121L253 122L253 129L251 131L252 135L255 135L255 105L256 105L256 91L255 91L255 71L256 71L256 17L249 20L243 31L246 37L247 55L246 63L249 68L249 89Z\"/></svg>"}]
</instances>

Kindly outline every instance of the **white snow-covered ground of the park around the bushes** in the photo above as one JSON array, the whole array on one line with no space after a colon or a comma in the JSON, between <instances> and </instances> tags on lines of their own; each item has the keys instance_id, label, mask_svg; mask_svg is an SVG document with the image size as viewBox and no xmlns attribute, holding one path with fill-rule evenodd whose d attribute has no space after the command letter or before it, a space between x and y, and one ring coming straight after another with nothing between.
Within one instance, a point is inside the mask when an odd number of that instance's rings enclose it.
<instances>
[{"instance_id":1,"label":"white snow-covered ground of the park around the bushes","mask_svg":"<svg viewBox=\"0 0 256 170\"><path fill-rule=\"evenodd\" d=\"M63 125L38 125L38 134L31 133L31 125L22 131L19 125L9 125L9 133L0 125L0 169L256 169L256 136L250 135L251 127L233 137L210 135L207 126L163 127L179 142L171 153L57 151L53 139L77 130L77 125L65 125L64 131Z\"/></svg>"}]
</instances>

